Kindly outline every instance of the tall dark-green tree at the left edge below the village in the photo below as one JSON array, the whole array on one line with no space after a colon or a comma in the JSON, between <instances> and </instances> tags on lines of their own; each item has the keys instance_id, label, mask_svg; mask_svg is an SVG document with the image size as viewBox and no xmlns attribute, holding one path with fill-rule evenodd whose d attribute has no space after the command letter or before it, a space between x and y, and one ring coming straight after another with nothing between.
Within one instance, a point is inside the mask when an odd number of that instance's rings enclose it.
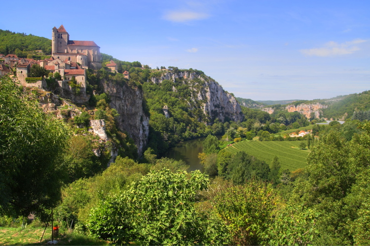
<instances>
[{"instance_id":1,"label":"tall dark-green tree at the left edge below the village","mask_svg":"<svg viewBox=\"0 0 370 246\"><path fill-rule=\"evenodd\" d=\"M0 213L40 214L60 199L68 129L0 78Z\"/></svg>"}]
</instances>

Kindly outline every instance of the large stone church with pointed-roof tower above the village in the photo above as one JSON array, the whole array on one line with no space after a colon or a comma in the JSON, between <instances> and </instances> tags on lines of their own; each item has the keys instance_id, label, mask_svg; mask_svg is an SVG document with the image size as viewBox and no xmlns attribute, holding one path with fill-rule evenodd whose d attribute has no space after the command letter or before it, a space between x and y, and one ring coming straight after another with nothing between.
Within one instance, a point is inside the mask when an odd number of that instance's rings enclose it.
<instances>
[{"instance_id":1,"label":"large stone church with pointed-roof tower above the village","mask_svg":"<svg viewBox=\"0 0 370 246\"><path fill-rule=\"evenodd\" d=\"M68 60L80 64L82 68L102 68L100 47L94 41L70 40L70 34L63 25L53 28L51 52L54 59Z\"/></svg>"}]
</instances>

